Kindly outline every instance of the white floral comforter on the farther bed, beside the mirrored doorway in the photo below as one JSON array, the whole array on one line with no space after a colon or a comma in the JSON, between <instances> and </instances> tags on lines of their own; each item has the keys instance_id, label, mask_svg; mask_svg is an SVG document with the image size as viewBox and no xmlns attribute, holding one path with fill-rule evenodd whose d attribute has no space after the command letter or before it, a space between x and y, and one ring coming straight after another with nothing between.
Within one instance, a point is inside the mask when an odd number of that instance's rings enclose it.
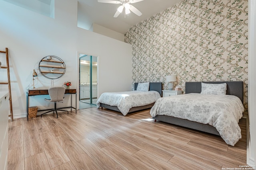
<instances>
[{"instance_id":1,"label":"white floral comforter on the farther bed, beside the mirrored doorway","mask_svg":"<svg viewBox=\"0 0 256 170\"><path fill-rule=\"evenodd\" d=\"M105 92L100 95L96 105L100 107L100 103L110 106L117 106L121 113L125 116L132 107L145 106L156 102L161 98L156 91L129 91L129 92Z\"/></svg>"}]
</instances>

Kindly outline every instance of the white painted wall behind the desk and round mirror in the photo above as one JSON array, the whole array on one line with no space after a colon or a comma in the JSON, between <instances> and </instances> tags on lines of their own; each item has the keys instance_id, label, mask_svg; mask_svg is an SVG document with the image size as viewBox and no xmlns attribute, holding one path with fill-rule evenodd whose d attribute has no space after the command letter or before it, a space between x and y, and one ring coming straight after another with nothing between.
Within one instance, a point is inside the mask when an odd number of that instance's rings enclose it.
<instances>
[{"instance_id":1,"label":"white painted wall behind the desk and round mirror","mask_svg":"<svg viewBox=\"0 0 256 170\"><path fill-rule=\"evenodd\" d=\"M54 80L54 86L70 81L78 91L80 52L98 57L98 95L132 89L131 45L77 27L77 0L55 0L55 19L2 0L0 6L0 50L9 49L14 118L26 116L26 88L33 69L38 72L36 88L50 86L51 80L38 71L40 60L47 55L60 57L66 64L66 73ZM1 69L0 80L2 74ZM31 97L30 106L45 109L46 97Z\"/></svg>"}]
</instances>

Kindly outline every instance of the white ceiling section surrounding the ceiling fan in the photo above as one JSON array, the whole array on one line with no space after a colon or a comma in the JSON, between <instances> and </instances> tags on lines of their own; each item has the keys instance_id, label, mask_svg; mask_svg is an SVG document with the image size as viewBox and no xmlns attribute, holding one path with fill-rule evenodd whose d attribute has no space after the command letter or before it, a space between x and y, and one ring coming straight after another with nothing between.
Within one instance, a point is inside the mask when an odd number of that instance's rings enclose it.
<instances>
[{"instance_id":1,"label":"white ceiling section surrounding the ceiling fan","mask_svg":"<svg viewBox=\"0 0 256 170\"><path fill-rule=\"evenodd\" d=\"M117 18L114 18L113 16L120 4L100 3L97 0L78 0L78 26L89 30L92 23L96 23L124 34L136 23L146 20L181 1L143 0L132 4L142 12L141 16L137 16L133 12L125 16L123 10Z\"/></svg>"}]
</instances>

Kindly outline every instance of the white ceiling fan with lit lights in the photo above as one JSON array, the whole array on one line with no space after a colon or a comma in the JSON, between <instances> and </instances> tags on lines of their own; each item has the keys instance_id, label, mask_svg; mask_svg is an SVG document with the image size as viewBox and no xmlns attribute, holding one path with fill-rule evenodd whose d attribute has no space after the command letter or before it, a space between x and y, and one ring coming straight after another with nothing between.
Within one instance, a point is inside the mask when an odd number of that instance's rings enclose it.
<instances>
[{"instance_id":1,"label":"white ceiling fan with lit lights","mask_svg":"<svg viewBox=\"0 0 256 170\"><path fill-rule=\"evenodd\" d=\"M137 16L141 16L142 13L134 6L130 5L140 1L143 1L143 0L118 0L118 1L117 0L98 0L98 2L102 2L102 3L122 4L117 8L116 13L114 14L114 18L118 17L119 14L122 13L123 9L125 9L125 14L130 14L130 11L132 11Z\"/></svg>"}]
</instances>

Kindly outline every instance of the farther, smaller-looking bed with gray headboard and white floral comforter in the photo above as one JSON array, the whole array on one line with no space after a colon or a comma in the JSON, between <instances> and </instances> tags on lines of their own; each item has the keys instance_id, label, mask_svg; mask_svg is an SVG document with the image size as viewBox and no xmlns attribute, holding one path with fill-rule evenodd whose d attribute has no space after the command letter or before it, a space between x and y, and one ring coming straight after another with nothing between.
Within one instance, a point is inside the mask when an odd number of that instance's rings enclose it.
<instances>
[{"instance_id":1,"label":"farther, smaller-looking bed with gray headboard and white floral comforter","mask_svg":"<svg viewBox=\"0 0 256 170\"><path fill-rule=\"evenodd\" d=\"M119 111L125 116L133 111L151 108L156 100L162 96L162 82L150 82L148 92L141 91L134 94L137 86L138 83L134 83L134 91L130 92L103 93L97 100L97 108L104 107ZM136 97L132 95L136 95Z\"/></svg>"}]
</instances>

